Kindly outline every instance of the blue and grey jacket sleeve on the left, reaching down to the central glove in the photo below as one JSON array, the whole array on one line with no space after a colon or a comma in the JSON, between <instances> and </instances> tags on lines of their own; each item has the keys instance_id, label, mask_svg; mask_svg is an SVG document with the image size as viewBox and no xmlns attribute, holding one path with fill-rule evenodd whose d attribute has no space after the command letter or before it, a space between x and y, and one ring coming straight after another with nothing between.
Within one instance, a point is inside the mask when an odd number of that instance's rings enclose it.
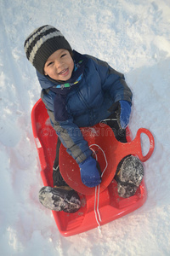
<instances>
[{"instance_id":1,"label":"blue and grey jacket sleeve on the left, reaching down to the central glove","mask_svg":"<svg viewBox=\"0 0 170 256\"><path fill-rule=\"evenodd\" d=\"M80 164L86 160L93 152L88 147L88 142L82 137L82 132L79 127L74 124L73 119L70 117L66 121L56 121L54 119L54 102L53 95L47 93L47 90L42 90L42 102L44 102L51 124L54 127L61 143L66 148L68 154Z\"/></svg>"}]
</instances>

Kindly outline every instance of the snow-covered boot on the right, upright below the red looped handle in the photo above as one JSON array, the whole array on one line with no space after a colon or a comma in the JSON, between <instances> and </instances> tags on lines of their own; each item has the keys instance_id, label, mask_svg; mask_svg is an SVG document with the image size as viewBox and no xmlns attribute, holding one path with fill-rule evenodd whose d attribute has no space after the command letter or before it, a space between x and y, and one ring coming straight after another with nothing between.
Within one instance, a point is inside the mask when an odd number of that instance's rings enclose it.
<instances>
[{"instance_id":1,"label":"snow-covered boot on the right, upright below the red looped handle","mask_svg":"<svg viewBox=\"0 0 170 256\"><path fill-rule=\"evenodd\" d=\"M144 167L140 160L133 155L124 158L120 164L115 177L117 192L119 196L127 198L136 193L144 177Z\"/></svg>"}]
</instances>

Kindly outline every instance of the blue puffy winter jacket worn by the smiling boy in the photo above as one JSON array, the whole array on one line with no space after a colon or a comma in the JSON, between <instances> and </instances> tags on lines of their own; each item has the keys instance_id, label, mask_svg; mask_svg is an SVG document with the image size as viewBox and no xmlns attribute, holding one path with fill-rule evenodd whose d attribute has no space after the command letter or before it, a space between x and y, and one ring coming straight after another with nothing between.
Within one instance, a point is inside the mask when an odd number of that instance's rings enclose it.
<instances>
[{"instance_id":1,"label":"blue puffy winter jacket worn by the smiling boy","mask_svg":"<svg viewBox=\"0 0 170 256\"><path fill-rule=\"evenodd\" d=\"M73 51L74 55L80 55ZM73 60L74 60L73 55ZM108 118L115 111L116 103L132 101L132 92L128 88L122 73L116 72L105 61L89 55L81 81L66 95L66 110L69 113L65 121L56 120L54 101L56 93L50 90L54 83L48 77L37 72L42 86L42 102L48 109L51 123L67 152L81 163L92 154L88 143L83 139L79 127L92 126ZM55 109L55 111L57 111Z\"/></svg>"}]
</instances>

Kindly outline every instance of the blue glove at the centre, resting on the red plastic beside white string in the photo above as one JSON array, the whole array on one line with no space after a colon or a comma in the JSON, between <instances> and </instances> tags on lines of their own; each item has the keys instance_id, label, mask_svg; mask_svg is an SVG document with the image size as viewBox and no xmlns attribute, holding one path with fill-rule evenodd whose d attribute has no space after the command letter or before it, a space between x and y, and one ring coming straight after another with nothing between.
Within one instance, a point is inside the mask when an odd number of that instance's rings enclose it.
<instances>
[{"instance_id":1,"label":"blue glove at the centre, resting on the red plastic beside white string","mask_svg":"<svg viewBox=\"0 0 170 256\"><path fill-rule=\"evenodd\" d=\"M97 167L97 161L92 156L79 164L82 183L88 188L93 188L101 183L101 176Z\"/></svg>"}]
</instances>

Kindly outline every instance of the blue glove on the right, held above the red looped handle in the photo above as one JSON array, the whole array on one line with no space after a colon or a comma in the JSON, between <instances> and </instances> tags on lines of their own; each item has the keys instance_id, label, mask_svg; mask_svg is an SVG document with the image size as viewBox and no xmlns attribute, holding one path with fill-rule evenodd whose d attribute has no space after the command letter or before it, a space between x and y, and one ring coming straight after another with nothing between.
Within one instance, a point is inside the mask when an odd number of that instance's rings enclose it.
<instances>
[{"instance_id":1,"label":"blue glove on the right, held above the red looped handle","mask_svg":"<svg viewBox=\"0 0 170 256\"><path fill-rule=\"evenodd\" d=\"M131 103L127 101L120 101L119 103L120 105L117 115L117 121L120 128L125 129L130 119Z\"/></svg>"}]
</instances>

